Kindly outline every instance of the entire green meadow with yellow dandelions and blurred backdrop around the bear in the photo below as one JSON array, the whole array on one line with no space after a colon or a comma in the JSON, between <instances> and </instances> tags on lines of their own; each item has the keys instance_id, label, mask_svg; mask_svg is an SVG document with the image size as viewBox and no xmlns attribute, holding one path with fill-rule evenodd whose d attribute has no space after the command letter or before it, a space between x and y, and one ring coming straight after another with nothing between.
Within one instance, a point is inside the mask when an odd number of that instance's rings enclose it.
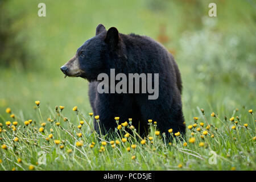
<instances>
[{"instance_id":1,"label":"entire green meadow with yellow dandelions and blurred backdrop around the bear","mask_svg":"<svg viewBox=\"0 0 256 182\"><path fill-rule=\"evenodd\" d=\"M39 2L0 4L0 170L256 169L255 2L215 1L213 18L210 1L44 1L46 17ZM158 133L163 121L140 138L132 118L110 139L93 133L88 82L64 79L60 67L99 23L150 36L174 55L184 138Z\"/></svg>"}]
</instances>

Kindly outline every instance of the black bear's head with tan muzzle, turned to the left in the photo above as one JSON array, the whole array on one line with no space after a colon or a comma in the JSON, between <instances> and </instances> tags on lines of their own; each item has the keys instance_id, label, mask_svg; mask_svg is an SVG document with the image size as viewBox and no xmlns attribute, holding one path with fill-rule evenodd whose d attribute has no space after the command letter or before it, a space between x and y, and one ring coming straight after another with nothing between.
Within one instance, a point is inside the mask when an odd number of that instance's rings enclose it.
<instances>
[{"instance_id":1,"label":"black bear's head with tan muzzle, turned to the left","mask_svg":"<svg viewBox=\"0 0 256 182\"><path fill-rule=\"evenodd\" d=\"M97 80L100 73L109 72L115 68L115 61L120 59L122 40L115 27L106 28L99 24L96 28L96 36L87 40L60 69L69 77L82 77L88 81Z\"/></svg>"}]
</instances>

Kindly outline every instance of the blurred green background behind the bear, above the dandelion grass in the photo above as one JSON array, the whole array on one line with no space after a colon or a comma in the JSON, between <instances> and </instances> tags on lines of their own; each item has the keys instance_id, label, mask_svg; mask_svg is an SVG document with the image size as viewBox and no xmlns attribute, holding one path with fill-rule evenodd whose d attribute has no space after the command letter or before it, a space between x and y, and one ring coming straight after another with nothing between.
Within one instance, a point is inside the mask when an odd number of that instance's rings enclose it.
<instances>
[{"instance_id":1,"label":"blurred green background behind the bear, above the dandelion grass","mask_svg":"<svg viewBox=\"0 0 256 182\"><path fill-rule=\"evenodd\" d=\"M38 3L46 3L46 17ZM209 3L217 17L208 16ZM102 23L147 35L174 55L183 79L185 120L208 113L255 109L256 1L0 1L0 122L6 107L21 118L56 105L88 113L88 83L60 71ZM49 107L48 107L49 106Z\"/></svg>"}]
</instances>

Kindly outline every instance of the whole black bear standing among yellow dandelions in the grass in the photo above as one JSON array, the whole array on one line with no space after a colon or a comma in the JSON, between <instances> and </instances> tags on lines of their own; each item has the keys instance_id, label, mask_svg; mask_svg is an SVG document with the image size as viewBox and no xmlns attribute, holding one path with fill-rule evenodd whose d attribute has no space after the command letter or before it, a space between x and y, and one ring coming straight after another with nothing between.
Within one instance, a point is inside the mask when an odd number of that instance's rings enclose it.
<instances>
[{"instance_id":1,"label":"whole black bear standing among yellow dandelions in the grass","mask_svg":"<svg viewBox=\"0 0 256 182\"><path fill-rule=\"evenodd\" d=\"M82 44L76 55L61 67L61 71L65 76L82 77L89 81L90 104L94 115L100 116L100 125L104 126L105 132L117 127L114 117L120 117L120 122L129 122L128 119L132 118L132 124L140 134L147 134L148 119L157 122L161 133L168 134L168 129L172 129L173 133L185 133L179 69L171 53L149 37L121 34L115 27L106 31L99 24L96 36ZM103 73L112 79L113 71L127 77L131 73L137 74L139 85L138 82L130 85L129 80L129 84L121 86L121 93L111 90L111 81L105 81L102 86L98 76ZM150 77L150 73L151 78L152 74L158 77L151 83L145 83L142 74ZM112 81L114 88L118 80L121 78ZM154 88L158 89L156 97L150 98L150 93L143 92L145 89L140 85L146 85L146 88L157 86ZM107 91L99 92L99 88ZM137 92L134 93L134 89ZM96 121L94 127L98 129Z\"/></svg>"}]
</instances>

